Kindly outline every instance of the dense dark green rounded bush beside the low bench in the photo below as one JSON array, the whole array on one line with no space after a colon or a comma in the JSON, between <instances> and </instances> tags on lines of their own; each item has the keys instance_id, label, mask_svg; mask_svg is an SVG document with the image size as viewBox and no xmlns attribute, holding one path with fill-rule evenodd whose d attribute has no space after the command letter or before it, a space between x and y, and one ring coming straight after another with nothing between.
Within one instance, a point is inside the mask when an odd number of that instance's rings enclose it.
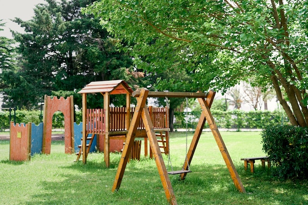
<instances>
[{"instance_id":1,"label":"dense dark green rounded bush beside the low bench","mask_svg":"<svg viewBox=\"0 0 308 205\"><path fill-rule=\"evenodd\" d=\"M261 136L278 177L308 178L308 128L268 126Z\"/></svg>"}]
</instances>

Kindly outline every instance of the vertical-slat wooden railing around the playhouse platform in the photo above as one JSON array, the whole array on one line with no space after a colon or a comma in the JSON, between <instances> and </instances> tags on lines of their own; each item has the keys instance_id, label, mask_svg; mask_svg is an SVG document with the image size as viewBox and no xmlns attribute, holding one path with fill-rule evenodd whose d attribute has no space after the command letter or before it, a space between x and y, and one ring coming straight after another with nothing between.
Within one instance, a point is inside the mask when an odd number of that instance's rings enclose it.
<instances>
[{"instance_id":1,"label":"vertical-slat wooden railing around the playhouse platform","mask_svg":"<svg viewBox=\"0 0 308 205\"><path fill-rule=\"evenodd\" d=\"M157 108L150 106L149 113L154 125L154 129L168 128L167 108ZM132 118L135 108L131 108L130 116ZM111 107L110 108L110 126L109 131L125 131L126 129L126 108ZM144 129L142 118L140 119L138 129ZM104 109L87 109L87 133L104 134Z\"/></svg>"}]
</instances>

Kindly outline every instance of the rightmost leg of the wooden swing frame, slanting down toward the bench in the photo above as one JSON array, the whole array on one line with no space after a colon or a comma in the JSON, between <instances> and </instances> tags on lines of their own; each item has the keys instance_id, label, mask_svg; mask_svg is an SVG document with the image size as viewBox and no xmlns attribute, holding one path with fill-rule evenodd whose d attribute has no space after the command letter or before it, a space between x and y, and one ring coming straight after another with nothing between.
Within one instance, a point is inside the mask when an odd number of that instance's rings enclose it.
<instances>
[{"instance_id":1,"label":"rightmost leg of the wooden swing frame, slanting down toward the bench","mask_svg":"<svg viewBox=\"0 0 308 205\"><path fill-rule=\"evenodd\" d=\"M219 147L219 150L220 150L220 153L227 165L227 168L229 170L229 173L231 175L231 178L233 180L233 183L234 185L236 186L236 188L240 191L240 192L246 192L243 184L242 184L242 181L241 181L241 178L238 174L238 172L236 171L235 169L235 166L232 162L232 159L229 155L229 152L222 140L222 137L218 131L218 128L217 128L217 125L215 123L215 120L214 120L214 117L212 116L211 114L211 111L210 111L210 108L206 105L206 102L205 102L205 99L204 98L198 98L198 101L201 105L201 110L202 112L204 113L206 119L208 120L208 123L209 123L209 126L212 130L212 133L214 135L214 138L216 140L216 143Z\"/></svg>"}]
</instances>

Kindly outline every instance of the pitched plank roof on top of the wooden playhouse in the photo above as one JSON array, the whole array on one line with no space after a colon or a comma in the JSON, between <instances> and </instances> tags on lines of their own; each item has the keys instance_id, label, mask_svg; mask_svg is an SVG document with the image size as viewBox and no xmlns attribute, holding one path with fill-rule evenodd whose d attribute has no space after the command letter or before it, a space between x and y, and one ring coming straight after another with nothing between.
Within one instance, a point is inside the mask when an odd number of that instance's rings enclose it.
<instances>
[{"instance_id":1,"label":"pitched plank roof on top of the wooden playhouse","mask_svg":"<svg viewBox=\"0 0 308 205\"><path fill-rule=\"evenodd\" d=\"M78 93L105 93L110 94L126 94L132 93L133 90L128 86L124 80L114 80L114 81L95 81L86 85Z\"/></svg>"}]
</instances>

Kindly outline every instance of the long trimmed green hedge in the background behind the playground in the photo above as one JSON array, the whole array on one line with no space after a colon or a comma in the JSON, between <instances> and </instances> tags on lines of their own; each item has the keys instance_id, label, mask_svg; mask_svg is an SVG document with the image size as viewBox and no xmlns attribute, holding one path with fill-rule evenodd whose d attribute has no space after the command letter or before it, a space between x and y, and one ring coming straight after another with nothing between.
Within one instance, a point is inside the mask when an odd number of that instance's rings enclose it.
<instances>
[{"instance_id":1,"label":"long trimmed green hedge in the background behind the playground","mask_svg":"<svg viewBox=\"0 0 308 205\"><path fill-rule=\"evenodd\" d=\"M238 131L245 128L258 128L261 129L268 125L281 125L288 124L288 118L283 112L279 111L241 111L241 110L231 110L231 111L219 111L212 110L212 115L215 118L218 128L235 128ZM12 112L12 115L14 113ZM75 121L77 123L82 121L81 111L75 112ZM193 111L187 115L183 112L175 112L175 123L174 128L185 128L185 117L188 119L188 128L194 129L198 123L201 111ZM13 120L13 116L12 116ZM53 127L62 128L64 126L64 118L61 112L56 112L53 117ZM34 122L38 124L41 121L40 111L26 111L17 110L16 111L16 122ZM205 125L208 126L207 123ZM0 112L0 130L9 128L9 112Z\"/></svg>"}]
</instances>

